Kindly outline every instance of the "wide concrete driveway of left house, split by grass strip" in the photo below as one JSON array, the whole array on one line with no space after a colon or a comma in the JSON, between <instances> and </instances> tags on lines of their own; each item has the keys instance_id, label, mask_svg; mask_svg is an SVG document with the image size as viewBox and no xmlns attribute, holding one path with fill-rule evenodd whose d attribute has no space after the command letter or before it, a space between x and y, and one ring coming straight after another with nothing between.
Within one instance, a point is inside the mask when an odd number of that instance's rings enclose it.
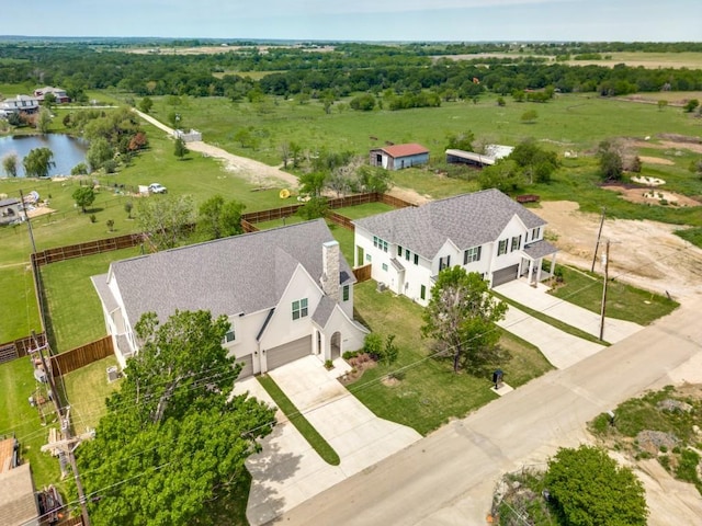
<instances>
[{"instance_id":1,"label":"wide concrete driveway of left house, split by grass strip","mask_svg":"<svg viewBox=\"0 0 702 526\"><path fill-rule=\"evenodd\" d=\"M309 446L279 411L279 425L262 441L260 454L249 457L252 477L247 517L265 524L304 501L331 488L421 438L415 430L378 419L337 380L348 365L335 361L328 371L315 356L306 356L270 371L317 432L337 451L341 462L330 466ZM237 382L237 392L249 391L273 404L256 378Z\"/></svg>"}]
</instances>

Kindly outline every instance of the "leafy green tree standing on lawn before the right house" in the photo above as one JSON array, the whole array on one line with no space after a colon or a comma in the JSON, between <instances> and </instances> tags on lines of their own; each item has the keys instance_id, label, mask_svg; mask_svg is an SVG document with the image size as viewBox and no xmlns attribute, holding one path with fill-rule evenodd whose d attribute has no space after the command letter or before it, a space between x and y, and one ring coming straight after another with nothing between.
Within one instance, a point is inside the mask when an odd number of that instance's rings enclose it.
<instances>
[{"instance_id":1,"label":"leafy green tree standing on lawn before the right house","mask_svg":"<svg viewBox=\"0 0 702 526\"><path fill-rule=\"evenodd\" d=\"M434 339L440 355L452 356L454 373L461 366L482 373L485 366L497 365L500 334L495 323L506 312L507 305L489 294L480 274L446 267L431 289L421 333Z\"/></svg>"}]
</instances>

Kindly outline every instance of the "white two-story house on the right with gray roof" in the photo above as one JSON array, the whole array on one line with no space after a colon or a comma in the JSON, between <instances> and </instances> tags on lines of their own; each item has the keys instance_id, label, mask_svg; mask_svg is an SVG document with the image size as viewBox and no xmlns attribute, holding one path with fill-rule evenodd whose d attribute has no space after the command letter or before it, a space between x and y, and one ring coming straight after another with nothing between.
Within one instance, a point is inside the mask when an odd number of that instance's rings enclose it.
<instances>
[{"instance_id":1,"label":"white two-story house on the right with gray roof","mask_svg":"<svg viewBox=\"0 0 702 526\"><path fill-rule=\"evenodd\" d=\"M498 190L485 190L358 219L354 265L396 294L427 305L442 268L461 265L495 287L519 276L541 281L556 248L546 221Z\"/></svg>"}]
</instances>

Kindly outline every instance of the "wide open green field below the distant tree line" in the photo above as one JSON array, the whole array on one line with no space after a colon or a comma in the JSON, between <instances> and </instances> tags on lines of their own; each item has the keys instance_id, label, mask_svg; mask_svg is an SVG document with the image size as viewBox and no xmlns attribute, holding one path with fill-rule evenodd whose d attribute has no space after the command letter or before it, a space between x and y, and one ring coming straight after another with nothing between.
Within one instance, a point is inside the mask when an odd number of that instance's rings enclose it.
<instances>
[{"instance_id":1,"label":"wide open green field below the distant tree line","mask_svg":"<svg viewBox=\"0 0 702 526\"><path fill-rule=\"evenodd\" d=\"M154 116L163 119L173 106L155 99ZM348 102L348 101L346 101ZM346 107L339 111L339 107ZM523 124L521 115L536 110L535 124ZM631 104L602 99L595 94L563 94L546 104L516 103L507 98L498 106L494 95L484 95L477 104L444 102L441 107L390 112L355 112L336 104L326 115L321 103L306 104L282 99L261 103L233 103L222 98L186 99L177 106L186 126L203 133L205 141L237 155L279 164L279 147L294 141L305 149L318 151L351 150L365 155L385 141L420 142L432 158L442 158L446 134L472 130L478 138L514 145L525 137L546 140L561 151L587 150L608 137L646 137L657 133L699 135L701 123L679 108ZM260 138L258 148L244 148L235 139L238 130L248 128ZM377 137L377 141L371 137Z\"/></svg>"}]
</instances>

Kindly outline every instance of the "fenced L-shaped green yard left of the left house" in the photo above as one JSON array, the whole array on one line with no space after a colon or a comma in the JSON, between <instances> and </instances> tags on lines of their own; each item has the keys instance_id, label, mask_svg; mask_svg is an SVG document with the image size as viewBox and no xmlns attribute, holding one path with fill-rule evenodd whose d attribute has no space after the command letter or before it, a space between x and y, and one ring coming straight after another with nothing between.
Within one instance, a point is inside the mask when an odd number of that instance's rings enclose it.
<instances>
[{"instance_id":1,"label":"fenced L-shaped green yard left of the left house","mask_svg":"<svg viewBox=\"0 0 702 526\"><path fill-rule=\"evenodd\" d=\"M105 335L102 307L90 276L104 274L113 261L138 254L140 249L135 247L42 266L47 332L55 353Z\"/></svg>"}]
</instances>

